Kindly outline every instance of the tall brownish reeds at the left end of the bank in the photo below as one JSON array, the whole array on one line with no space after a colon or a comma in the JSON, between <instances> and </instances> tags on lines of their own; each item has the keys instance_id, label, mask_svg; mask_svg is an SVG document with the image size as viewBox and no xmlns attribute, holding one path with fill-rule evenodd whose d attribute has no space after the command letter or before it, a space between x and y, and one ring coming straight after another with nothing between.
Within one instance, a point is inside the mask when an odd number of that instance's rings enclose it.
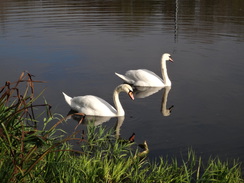
<instances>
[{"instance_id":1,"label":"tall brownish reeds at the left end of the bank","mask_svg":"<svg viewBox=\"0 0 244 183\"><path fill-rule=\"evenodd\" d=\"M70 137L55 136L55 128L63 119L52 115L51 106L34 102L43 93L34 95L33 75L22 73L16 82L7 81L0 88L0 180L1 182L26 181L32 177L33 169L45 156ZM38 110L43 107L41 112ZM38 112L36 112L38 111ZM45 116L43 117L43 115ZM37 129L42 118L43 129ZM58 122L50 129L45 127L50 121Z\"/></svg>"}]
</instances>

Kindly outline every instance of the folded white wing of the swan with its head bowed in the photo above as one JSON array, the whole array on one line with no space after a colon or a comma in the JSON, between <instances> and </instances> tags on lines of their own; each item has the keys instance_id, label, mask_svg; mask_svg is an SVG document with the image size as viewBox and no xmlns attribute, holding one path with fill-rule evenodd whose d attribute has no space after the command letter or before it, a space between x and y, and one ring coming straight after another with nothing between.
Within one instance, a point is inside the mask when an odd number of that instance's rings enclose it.
<instances>
[{"instance_id":1,"label":"folded white wing of the swan with its head bowed","mask_svg":"<svg viewBox=\"0 0 244 183\"><path fill-rule=\"evenodd\" d=\"M116 116L116 109L105 100L93 96L79 96L71 100L71 108L92 116Z\"/></svg>"}]
</instances>

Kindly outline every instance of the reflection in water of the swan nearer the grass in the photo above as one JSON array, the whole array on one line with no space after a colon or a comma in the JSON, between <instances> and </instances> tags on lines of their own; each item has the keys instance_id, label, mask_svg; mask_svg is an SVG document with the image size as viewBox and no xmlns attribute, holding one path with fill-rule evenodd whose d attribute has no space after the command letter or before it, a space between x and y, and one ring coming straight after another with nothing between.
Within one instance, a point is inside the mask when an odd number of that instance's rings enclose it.
<instances>
[{"instance_id":1,"label":"reflection in water of the swan nearer the grass","mask_svg":"<svg viewBox=\"0 0 244 183\"><path fill-rule=\"evenodd\" d=\"M87 116L82 113L77 113L74 110L70 110L66 119L74 119L78 122L76 128L80 125L87 125L89 123L94 124L94 126L102 125L105 122L108 122L111 120L111 118L116 118L116 124L115 124L115 137L116 139L120 138L120 128L123 125L125 116L118 116L118 117L108 117L108 116Z\"/></svg>"}]
</instances>

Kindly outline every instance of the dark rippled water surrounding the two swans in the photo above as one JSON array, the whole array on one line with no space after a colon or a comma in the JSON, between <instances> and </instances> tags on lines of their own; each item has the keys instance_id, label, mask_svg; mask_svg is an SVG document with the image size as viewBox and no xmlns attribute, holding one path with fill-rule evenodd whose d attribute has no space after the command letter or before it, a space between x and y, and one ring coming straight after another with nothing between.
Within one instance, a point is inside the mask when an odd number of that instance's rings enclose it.
<instances>
[{"instance_id":1,"label":"dark rippled water surrounding the two swans","mask_svg":"<svg viewBox=\"0 0 244 183\"><path fill-rule=\"evenodd\" d=\"M147 140L150 157L185 154L244 160L244 1L0 1L0 81L22 71L47 81L53 110L70 96L93 94L112 104L114 72L147 68L159 76L164 52L172 88L131 101L120 134ZM115 125L111 119L104 125ZM72 131L74 121L63 125Z\"/></svg>"}]
</instances>

